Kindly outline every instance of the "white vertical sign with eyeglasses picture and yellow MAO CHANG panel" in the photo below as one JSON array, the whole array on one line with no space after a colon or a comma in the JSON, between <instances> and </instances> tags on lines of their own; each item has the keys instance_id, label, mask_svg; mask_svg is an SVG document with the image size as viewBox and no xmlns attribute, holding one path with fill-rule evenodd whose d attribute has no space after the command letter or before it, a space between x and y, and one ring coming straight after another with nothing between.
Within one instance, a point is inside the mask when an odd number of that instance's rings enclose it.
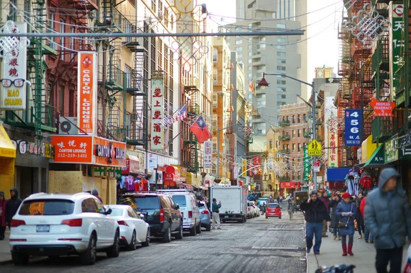
<instances>
[{"instance_id":1,"label":"white vertical sign with eyeglasses picture and yellow MAO CHANG panel","mask_svg":"<svg viewBox=\"0 0 411 273\"><path fill-rule=\"evenodd\" d=\"M14 27L20 33L27 33L26 23L14 23ZM12 51L12 56L3 58L0 107L23 110L26 109L27 47Z\"/></svg>"}]
</instances>

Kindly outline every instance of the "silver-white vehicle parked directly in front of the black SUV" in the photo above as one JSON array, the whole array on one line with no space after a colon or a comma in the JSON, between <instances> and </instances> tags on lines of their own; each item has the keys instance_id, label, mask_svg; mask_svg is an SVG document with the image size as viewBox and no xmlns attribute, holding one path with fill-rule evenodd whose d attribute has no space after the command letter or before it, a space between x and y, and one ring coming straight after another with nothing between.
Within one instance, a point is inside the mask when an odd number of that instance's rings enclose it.
<instances>
[{"instance_id":1,"label":"silver-white vehicle parked directly in front of the black SUV","mask_svg":"<svg viewBox=\"0 0 411 273\"><path fill-rule=\"evenodd\" d=\"M188 190L158 190L165 194L169 194L173 198L174 203L179 205L179 209L183 215L183 229L190 231L190 235L201 233L201 218L200 210L197 204L197 198Z\"/></svg>"}]
</instances>

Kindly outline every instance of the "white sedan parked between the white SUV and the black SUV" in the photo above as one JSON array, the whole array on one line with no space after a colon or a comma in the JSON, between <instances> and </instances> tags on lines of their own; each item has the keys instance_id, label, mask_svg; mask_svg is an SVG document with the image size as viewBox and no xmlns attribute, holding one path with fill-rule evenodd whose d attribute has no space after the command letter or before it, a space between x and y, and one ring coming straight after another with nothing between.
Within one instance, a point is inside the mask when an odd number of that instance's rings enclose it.
<instances>
[{"instance_id":1,"label":"white sedan parked between the white SUV and the black SUV","mask_svg":"<svg viewBox=\"0 0 411 273\"><path fill-rule=\"evenodd\" d=\"M142 220L144 214L138 215L128 205L105 205L111 209L110 216L117 220L120 226L120 244L127 250L136 250L137 244L150 245L150 226Z\"/></svg>"}]
</instances>

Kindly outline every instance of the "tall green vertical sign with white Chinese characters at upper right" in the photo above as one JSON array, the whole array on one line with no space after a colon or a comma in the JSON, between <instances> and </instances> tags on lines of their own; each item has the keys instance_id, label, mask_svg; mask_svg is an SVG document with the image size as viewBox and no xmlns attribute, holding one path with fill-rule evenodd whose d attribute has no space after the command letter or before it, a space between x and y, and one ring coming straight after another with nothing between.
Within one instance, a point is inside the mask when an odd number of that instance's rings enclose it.
<instances>
[{"instance_id":1,"label":"tall green vertical sign with white Chinese characters at upper right","mask_svg":"<svg viewBox=\"0 0 411 273\"><path fill-rule=\"evenodd\" d=\"M403 63L403 53L406 46L403 38L403 4L393 3L392 1L390 3L390 11L390 86L395 87L397 86L397 77L395 77L395 72ZM394 101L394 96L395 92L391 92L391 101ZM402 103L402 101L397 101L397 104L400 103Z\"/></svg>"}]
</instances>

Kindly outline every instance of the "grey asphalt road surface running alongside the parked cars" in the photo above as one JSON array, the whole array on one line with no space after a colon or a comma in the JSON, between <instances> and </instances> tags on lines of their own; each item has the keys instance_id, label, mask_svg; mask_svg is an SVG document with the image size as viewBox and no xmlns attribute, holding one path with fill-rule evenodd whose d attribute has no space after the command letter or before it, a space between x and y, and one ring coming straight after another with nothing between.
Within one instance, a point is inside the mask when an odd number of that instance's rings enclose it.
<instances>
[{"instance_id":1,"label":"grey asphalt road surface running alongside the parked cars","mask_svg":"<svg viewBox=\"0 0 411 273\"><path fill-rule=\"evenodd\" d=\"M282 220L260 216L245 224L228 222L220 231L203 229L194 237L184 233L184 239L169 244L152 238L148 248L122 250L118 258L101 253L92 266L80 265L77 257L60 257L25 267L1 265L0 272L306 272L302 213L294 216L288 220L283 209Z\"/></svg>"}]
</instances>

